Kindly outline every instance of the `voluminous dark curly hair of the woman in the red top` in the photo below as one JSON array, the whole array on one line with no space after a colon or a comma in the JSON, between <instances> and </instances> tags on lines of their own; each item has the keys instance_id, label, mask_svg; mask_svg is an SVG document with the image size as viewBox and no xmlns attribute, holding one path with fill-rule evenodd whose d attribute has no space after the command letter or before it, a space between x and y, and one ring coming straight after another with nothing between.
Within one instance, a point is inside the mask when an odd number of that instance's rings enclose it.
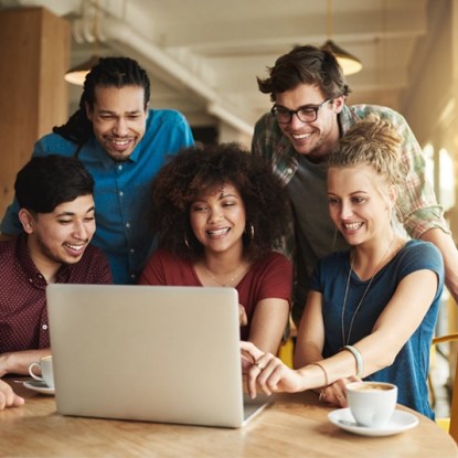
<instances>
[{"instance_id":1,"label":"voluminous dark curly hair of the woman in the red top","mask_svg":"<svg viewBox=\"0 0 458 458\"><path fill-rule=\"evenodd\" d=\"M151 211L160 247L182 258L201 258L203 246L190 224L191 204L226 183L237 189L245 205L244 255L257 259L277 247L285 230L286 191L267 162L237 143L187 148L159 171Z\"/></svg>"}]
</instances>

